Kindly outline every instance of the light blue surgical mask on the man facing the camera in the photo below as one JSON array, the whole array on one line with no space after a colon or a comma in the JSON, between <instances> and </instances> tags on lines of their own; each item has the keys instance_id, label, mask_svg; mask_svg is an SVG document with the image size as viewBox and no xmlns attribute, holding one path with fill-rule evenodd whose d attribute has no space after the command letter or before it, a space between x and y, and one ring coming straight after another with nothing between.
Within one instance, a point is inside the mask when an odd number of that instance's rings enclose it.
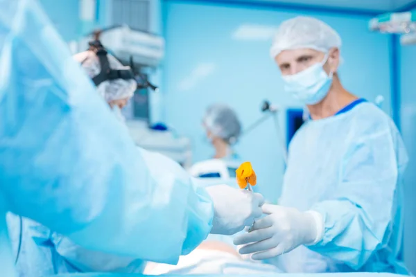
<instances>
[{"instance_id":1,"label":"light blue surgical mask on the man facing the camera","mask_svg":"<svg viewBox=\"0 0 416 277\"><path fill-rule=\"evenodd\" d=\"M293 94L304 105L318 104L325 96L332 84L332 73L324 71L324 64L328 56L318 64L313 64L308 69L294 75L283 76L284 90Z\"/></svg>"}]
</instances>

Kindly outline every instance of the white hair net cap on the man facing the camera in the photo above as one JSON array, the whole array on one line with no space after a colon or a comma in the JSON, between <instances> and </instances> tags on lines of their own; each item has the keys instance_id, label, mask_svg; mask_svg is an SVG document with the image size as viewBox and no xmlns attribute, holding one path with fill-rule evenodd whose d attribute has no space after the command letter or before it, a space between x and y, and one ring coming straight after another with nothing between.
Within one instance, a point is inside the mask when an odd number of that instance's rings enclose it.
<instances>
[{"instance_id":1,"label":"white hair net cap on the man facing the camera","mask_svg":"<svg viewBox=\"0 0 416 277\"><path fill-rule=\"evenodd\" d=\"M273 39L270 55L274 59L281 51L311 48L327 53L340 48L340 35L331 26L313 17L294 17L283 21Z\"/></svg>"}]
</instances>

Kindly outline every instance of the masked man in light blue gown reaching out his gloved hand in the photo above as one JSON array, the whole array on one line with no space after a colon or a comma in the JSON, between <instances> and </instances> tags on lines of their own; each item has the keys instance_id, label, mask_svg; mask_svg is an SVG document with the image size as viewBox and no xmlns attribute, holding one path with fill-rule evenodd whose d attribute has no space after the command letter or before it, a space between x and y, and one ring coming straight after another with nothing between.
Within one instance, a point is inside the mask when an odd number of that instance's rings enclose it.
<instances>
[{"instance_id":1,"label":"masked man in light blue gown reaching out his gloved hand","mask_svg":"<svg viewBox=\"0 0 416 277\"><path fill-rule=\"evenodd\" d=\"M287 272L407 274L401 260L402 176L408 157L395 124L338 75L341 39L311 17L278 28L271 48L284 91L308 120L288 150L278 205L235 238L240 253Z\"/></svg>"}]
</instances>

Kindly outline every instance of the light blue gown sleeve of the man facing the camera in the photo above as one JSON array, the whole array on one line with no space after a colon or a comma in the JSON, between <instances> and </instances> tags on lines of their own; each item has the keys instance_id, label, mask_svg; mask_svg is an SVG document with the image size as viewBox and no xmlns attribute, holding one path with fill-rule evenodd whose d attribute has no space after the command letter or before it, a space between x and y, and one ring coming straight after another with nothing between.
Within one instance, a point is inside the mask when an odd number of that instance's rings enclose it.
<instances>
[{"instance_id":1,"label":"light blue gown sleeve of the man facing the camera","mask_svg":"<svg viewBox=\"0 0 416 277\"><path fill-rule=\"evenodd\" d=\"M363 137L345 154L341 184L331 200L312 208L324 218L324 235L311 250L360 269L388 243L399 171L397 144L389 129Z\"/></svg>"}]
</instances>

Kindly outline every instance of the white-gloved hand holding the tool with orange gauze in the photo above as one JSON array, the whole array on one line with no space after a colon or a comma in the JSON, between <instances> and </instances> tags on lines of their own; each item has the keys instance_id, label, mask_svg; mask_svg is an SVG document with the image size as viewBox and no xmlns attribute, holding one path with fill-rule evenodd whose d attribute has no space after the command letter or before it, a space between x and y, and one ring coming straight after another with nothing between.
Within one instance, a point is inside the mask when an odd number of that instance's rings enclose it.
<instances>
[{"instance_id":1,"label":"white-gloved hand holding the tool with orange gauze","mask_svg":"<svg viewBox=\"0 0 416 277\"><path fill-rule=\"evenodd\" d=\"M245 226L251 226L263 213L264 199L259 193L227 185L209 186L207 192L214 202L212 234L234 235Z\"/></svg>"}]
</instances>

